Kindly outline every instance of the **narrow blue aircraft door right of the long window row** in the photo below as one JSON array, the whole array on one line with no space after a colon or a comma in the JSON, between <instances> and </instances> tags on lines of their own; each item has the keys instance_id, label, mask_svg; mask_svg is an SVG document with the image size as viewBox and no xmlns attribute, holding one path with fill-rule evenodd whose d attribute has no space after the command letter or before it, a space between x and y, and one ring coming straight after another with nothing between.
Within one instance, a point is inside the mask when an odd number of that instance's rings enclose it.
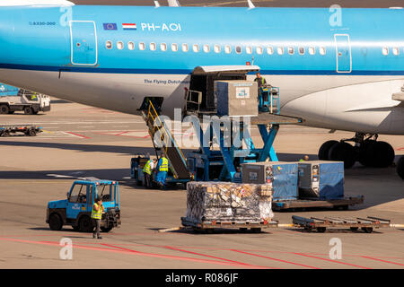
<instances>
[{"instance_id":1,"label":"narrow blue aircraft door right of the long window row","mask_svg":"<svg viewBox=\"0 0 404 287\"><path fill-rule=\"evenodd\" d=\"M335 34L334 39L337 52L337 73L351 73L352 54L349 35Z\"/></svg>"}]
</instances>

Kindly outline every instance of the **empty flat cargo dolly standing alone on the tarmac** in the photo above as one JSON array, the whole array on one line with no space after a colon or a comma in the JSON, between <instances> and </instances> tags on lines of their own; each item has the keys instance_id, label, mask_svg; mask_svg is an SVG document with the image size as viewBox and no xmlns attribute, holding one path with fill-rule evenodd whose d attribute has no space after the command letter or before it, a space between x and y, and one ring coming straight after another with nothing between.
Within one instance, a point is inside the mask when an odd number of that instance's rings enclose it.
<instances>
[{"instance_id":1,"label":"empty flat cargo dolly standing alone on the tarmac","mask_svg":"<svg viewBox=\"0 0 404 287\"><path fill-rule=\"evenodd\" d=\"M342 217L324 217L324 218L305 218L300 216L292 216L294 226L303 227L304 230L311 231L317 230L318 232L325 232L329 227L349 228L356 231L359 228L366 233L372 233L374 228L390 227L390 220L371 217L367 218L342 218Z\"/></svg>"}]
</instances>

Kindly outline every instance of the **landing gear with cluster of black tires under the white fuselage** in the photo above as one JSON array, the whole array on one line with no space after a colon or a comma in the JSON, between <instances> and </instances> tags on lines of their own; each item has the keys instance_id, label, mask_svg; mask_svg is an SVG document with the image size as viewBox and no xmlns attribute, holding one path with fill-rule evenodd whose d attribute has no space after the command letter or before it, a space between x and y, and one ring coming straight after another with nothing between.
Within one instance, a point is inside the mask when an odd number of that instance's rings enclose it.
<instances>
[{"instance_id":1,"label":"landing gear with cluster of black tires under the white fuselage","mask_svg":"<svg viewBox=\"0 0 404 287\"><path fill-rule=\"evenodd\" d=\"M321 161L344 161L346 169L359 161L366 167L387 168L394 161L394 150L389 143L378 142L378 135L356 133L354 138L323 143L319 150ZM354 142L355 146L347 142Z\"/></svg>"}]
</instances>

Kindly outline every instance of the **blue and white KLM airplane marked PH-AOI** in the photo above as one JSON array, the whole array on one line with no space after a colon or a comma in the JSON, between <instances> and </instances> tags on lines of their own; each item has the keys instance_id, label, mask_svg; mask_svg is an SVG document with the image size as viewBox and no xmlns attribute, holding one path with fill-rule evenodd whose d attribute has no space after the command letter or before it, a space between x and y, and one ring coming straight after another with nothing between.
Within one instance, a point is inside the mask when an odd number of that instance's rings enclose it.
<instances>
[{"instance_id":1,"label":"blue and white KLM airplane marked PH-AOI","mask_svg":"<svg viewBox=\"0 0 404 287\"><path fill-rule=\"evenodd\" d=\"M172 2L172 1L171 1ZM0 82L103 109L162 114L185 90L260 71L280 88L281 113L355 133L321 145L321 160L388 167L404 135L404 10L0 4ZM205 107L205 108L206 108ZM353 142L352 145L348 142ZM402 162L402 161L400 161ZM402 166L403 164L400 164ZM400 167L404 169L404 167ZM401 171L402 172L402 171Z\"/></svg>"}]
</instances>

